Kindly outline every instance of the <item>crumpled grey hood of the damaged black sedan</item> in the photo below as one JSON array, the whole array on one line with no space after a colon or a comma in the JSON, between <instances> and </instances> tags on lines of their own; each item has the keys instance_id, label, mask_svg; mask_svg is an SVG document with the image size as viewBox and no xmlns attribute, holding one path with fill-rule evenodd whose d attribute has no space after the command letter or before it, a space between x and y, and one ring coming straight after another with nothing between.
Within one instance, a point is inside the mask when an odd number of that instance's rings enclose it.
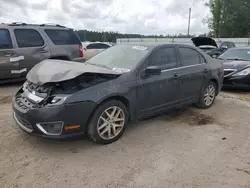
<instances>
[{"instance_id":1,"label":"crumpled grey hood of the damaged black sedan","mask_svg":"<svg viewBox=\"0 0 250 188\"><path fill-rule=\"evenodd\" d=\"M121 74L118 71L86 63L48 59L35 65L26 78L34 84L43 85L49 82L70 80L84 73Z\"/></svg>"}]
</instances>

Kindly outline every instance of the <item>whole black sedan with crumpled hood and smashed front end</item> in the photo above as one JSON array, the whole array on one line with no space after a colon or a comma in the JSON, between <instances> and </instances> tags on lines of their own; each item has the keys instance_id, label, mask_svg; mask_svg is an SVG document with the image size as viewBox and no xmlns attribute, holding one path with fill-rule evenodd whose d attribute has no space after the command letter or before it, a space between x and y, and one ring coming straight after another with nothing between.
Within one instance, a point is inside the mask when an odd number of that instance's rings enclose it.
<instances>
[{"instance_id":1,"label":"whole black sedan with crumpled hood and smashed front end","mask_svg":"<svg viewBox=\"0 0 250 188\"><path fill-rule=\"evenodd\" d=\"M84 64L37 64L14 96L13 115L32 135L87 133L109 144L131 121L189 104L211 107L222 82L222 63L198 48L115 45Z\"/></svg>"}]
</instances>

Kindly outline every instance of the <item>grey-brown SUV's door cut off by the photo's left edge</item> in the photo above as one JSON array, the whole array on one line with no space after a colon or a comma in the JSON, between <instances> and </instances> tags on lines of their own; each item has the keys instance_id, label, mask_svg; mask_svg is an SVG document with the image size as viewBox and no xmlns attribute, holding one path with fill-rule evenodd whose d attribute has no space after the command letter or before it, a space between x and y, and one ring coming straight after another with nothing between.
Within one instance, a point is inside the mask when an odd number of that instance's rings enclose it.
<instances>
[{"instance_id":1,"label":"grey-brown SUV's door cut off by the photo's left edge","mask_svg":"<svg viewBox=\"0 0 250 188\"><path fill-rule=\"evenodd\" d=\"M10 32L0 28L0 79L19 77L15 70L19 70L19 61L13 49Z\"/></svg>"}]
</instances>

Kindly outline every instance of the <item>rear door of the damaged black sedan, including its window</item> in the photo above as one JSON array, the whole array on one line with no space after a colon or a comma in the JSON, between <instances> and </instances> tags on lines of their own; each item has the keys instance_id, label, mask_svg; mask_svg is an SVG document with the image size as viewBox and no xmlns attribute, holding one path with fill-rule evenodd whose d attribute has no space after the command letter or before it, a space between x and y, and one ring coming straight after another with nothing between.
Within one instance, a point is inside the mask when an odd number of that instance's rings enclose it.
<instances>
[{"instance_id":1,"label":"rear door of the damaged black sedan, including its window","mask_svg":"<svg viewBox=\"0 0 250 188\"><path fill-rule=\"evenodd\" d=\"M205 58L194 48L178 47L178 52L181 63L178 69L180 99L181 103L190 103L198 99L211 72Z\"/></svg>"}]
</instances>

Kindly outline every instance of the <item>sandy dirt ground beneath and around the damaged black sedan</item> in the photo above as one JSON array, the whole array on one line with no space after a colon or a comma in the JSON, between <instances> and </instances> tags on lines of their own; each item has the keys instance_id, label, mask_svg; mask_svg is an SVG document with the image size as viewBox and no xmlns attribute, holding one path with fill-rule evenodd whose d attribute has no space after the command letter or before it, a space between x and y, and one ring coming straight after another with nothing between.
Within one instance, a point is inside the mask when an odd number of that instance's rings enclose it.
<instances>
[{"instance_id":1,"label":"sandy dirt ground beneath and around the damaged black sedan","mask_svg":"<svg viewBox=\"0 0 250 188\"><path fill-rule=\"evenodd\" d=\"M23 133L11 117L16 88L0 88L1 188L250 188L250 93L223 92L211 109L144 120L98 146Z\"/></svg>"}]
</instances>

